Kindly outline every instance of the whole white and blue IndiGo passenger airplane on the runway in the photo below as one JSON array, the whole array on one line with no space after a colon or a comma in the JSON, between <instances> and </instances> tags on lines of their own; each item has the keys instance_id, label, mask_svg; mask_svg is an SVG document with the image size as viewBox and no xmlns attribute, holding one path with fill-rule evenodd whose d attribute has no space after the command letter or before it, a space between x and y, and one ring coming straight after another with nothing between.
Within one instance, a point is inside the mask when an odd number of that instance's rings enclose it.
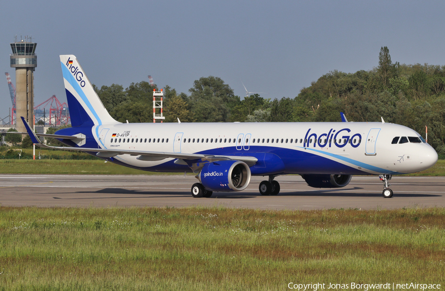
<instances>
[{"instance_id":1,"label":"whole white and blue IndiGo passenger airplane on the runway","mask_svg":"<svg viewBox=\"0 0 445 291\"><path fill-rule=\"evenodd\" d=\"M74 55L61 55L71 128L43 144L26 120L36 146L80 150L105 161L152 172L193 172L196 198L242 191L252 176L267 177L262 195L277 195L279 175L299 174L311 187L345 187L353 175L379 175L382 195L393 196L393 175L432 167L438 154L416 131L382 122L121 123L95 93Z\"/></svg>"}]
</instances>

